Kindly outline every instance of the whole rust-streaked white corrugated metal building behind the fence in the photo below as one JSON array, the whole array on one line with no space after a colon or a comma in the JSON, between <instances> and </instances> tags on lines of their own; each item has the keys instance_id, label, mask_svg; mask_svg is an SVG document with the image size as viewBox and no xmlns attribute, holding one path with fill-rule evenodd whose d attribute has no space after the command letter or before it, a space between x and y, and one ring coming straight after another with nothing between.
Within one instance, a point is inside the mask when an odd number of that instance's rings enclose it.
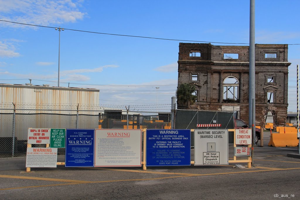
<instances>
[{"instance_id":1,"label":"whole rust-streaked white corrugated metal building behind the fence","mask_svg":"<svg viewBox=\"0 0 300 200\"><path fill-rule=\"evenodd\" d=\"M28 128L98 128L99 89L0 84L1 138L12 137L14 105L18 140Z\"/></svg>"}]
</instances>

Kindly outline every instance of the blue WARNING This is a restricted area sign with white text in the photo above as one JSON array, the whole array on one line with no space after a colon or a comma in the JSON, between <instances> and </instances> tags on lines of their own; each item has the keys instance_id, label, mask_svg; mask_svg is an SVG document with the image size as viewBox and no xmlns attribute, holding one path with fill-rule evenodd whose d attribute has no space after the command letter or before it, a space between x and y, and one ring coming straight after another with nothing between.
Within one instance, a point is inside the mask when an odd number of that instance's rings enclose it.
<instances>
[{"instance_id":1,"label":"blue WARNING This is a restricted area sign with white text","mask_svg":"<svg viewBox=\"0 0 300 200\"><path fill-rule=\"evenodd\" d=\"M190 130L147 129L146 166L190 165Z\"/></svg>"}]
</instances>

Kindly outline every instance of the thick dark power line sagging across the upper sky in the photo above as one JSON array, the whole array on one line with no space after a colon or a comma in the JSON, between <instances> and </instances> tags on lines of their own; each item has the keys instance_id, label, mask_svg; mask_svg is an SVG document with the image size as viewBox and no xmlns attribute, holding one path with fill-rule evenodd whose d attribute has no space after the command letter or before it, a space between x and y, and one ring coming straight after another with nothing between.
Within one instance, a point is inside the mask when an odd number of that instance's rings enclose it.
<instances>
[{"instance_id":1,"label":"thick dark power line sagging across the upper sky","mask_svg":"<svg viewBox=\"0 0 300 200\"><path fill-rule=\"evenodd\" d=\"M43 27L43 28L51 28L51 29L58 28L58 27L51 27L51 26L40 26L40 25L34 25L34 24L11 22L11 21L7 21L7 20L0 20L0 21L2 21L2 22L9 22L9 23L15 23L15 24L22 24L22 25L27 25L27 26L37 26L37 27ZM156 39L156 40L169 40L169 41L204 42L204 43L217 43L217 44L249 44L249 43L211 42L211 41L197 41L197 40L179 40L179 39L169 39L169 38L154 38L154 37L146 37L146 36L122 35L122 34L113 34L113 33L101 33L101 32L94 32L94 31L83 31L83 30L66 29L66 28L64 28L64 30L78 31L78 32L85 32L85 33L103 34L103 35L115 35L115 36L134 37L134 38L148 38L148 39ZM300 45L300 44L288 44L288 45Z\"/></svg>"}]
</instances>

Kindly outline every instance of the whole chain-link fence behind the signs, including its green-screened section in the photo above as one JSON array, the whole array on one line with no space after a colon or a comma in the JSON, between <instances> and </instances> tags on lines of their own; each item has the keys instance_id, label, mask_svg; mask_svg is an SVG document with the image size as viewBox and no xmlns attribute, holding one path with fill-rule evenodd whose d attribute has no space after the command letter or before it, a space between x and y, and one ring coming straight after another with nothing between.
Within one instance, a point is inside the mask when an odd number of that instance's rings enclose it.
<instances>
[{"instance_id":1,"label":"whole chain-link fence behind the signs, including its green-screened section","mask_svg":"<svg viewBox=\"0 0 300 200\"><path fill-rule=\"evenodd\" d=\"M28 128L171 129L171 116L171 112L134 112L99 105L2 104L0 158L26 156ZM174 119L174 129L233 129L233 113L228 112L176 110ZM221 126L197 127L215 123ZM233 143L233 132L229 132L229 143ZM32 146L46 147L46 144ZM193 132L191 146L194 146ZM58 155L64 154L65 149L58 148Z\"/></svg>"}]
</instances>

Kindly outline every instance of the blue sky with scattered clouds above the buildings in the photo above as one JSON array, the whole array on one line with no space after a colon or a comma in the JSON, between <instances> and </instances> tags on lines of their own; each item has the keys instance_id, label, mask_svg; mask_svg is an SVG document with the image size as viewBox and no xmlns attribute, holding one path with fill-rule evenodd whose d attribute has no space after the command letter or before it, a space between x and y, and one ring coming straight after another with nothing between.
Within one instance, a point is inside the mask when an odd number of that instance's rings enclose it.
<instances>
[{"instance_id":1,"label":"blue sky with scattered clouds above the buildings","mask_svg":"<svg viewBox=\"0 0 300 200\"><path fill-rule=\"evenodd\" d=\"M0 0L0 20L90 32L249 43L249 3L238 1ZM299 44L298 0L255 4L255 43ZM0 21L0 83L57 86L53 28ZM60 86L100 89L100 105L170 111L179 42L72 30L60 35ZM226 45L226 44L224 44ZM289 45L289 108L296 111L300 45ZM159 87L159 89L156 89ZM167 105L165 105L167 104Z\"/></svg>"}]
</instances>

